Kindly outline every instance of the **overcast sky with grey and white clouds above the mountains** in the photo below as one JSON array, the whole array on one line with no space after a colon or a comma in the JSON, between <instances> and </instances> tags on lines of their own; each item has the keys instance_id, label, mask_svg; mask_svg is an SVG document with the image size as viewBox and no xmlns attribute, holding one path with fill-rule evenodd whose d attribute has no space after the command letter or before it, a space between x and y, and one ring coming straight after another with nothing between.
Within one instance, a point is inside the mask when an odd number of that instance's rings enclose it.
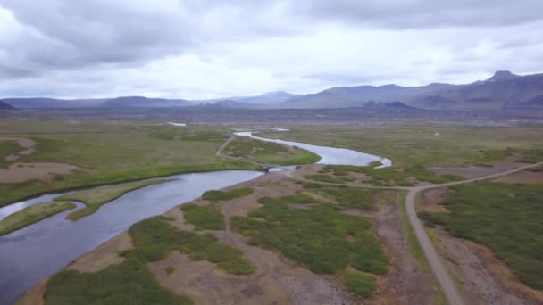
<instances>
[{"instance_id":1,"label":"overcast sky with grey and white clouds above the mountains","mask_svg":"<svg viewBox=\"0 0 543 305\"><path fill-rule=\"evenodd\" d=\"M0 96L204 99L543 71L542 0L0 0Z\"/></svg>"}]
</instances>

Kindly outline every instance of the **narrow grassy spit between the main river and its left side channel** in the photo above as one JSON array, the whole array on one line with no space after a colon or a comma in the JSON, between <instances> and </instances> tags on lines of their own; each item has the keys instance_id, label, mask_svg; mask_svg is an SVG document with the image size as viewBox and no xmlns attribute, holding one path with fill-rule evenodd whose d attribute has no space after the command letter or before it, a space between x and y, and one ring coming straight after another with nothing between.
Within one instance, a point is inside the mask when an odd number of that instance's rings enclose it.
<instances>
[{"instance_id":1,"label":"narrow grassy spit between the main river and its left side channel","mask_svg":"<svg viewBox=\"0 0 543 305\"><path fill-rule=\"evenodd\" d=\"M126 194L130 191L134 191L138 188L142 188L149 185L158 185L170 180L157 179L157 180L147 180L147 181L138 181L130 182L121 185L109 185L103 187L91 188L84 191L74 192L70 194L64 194L54 198L54 201L66 202L66 201L76 201L83 202L87 204L87 207L82 210L76 210L73 213L66 216L70 220L78 220L84 218L88 215L96 213L107 202L111 202L123 194Z\"/></svg>"}]
</instances>

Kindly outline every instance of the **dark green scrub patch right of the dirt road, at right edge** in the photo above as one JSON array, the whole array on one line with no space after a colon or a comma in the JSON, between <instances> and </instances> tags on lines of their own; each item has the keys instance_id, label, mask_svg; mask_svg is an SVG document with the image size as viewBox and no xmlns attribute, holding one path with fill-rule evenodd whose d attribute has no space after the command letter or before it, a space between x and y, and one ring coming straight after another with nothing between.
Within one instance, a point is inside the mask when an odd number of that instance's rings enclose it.
<instances>
[{"instance_id":1,"label":"dark green scrub patch right of the dirt road, at right edge","mask_svg":"<svg viewBox=\"0 0 543 305\"><path fill-rule=\"evenodd\" d=\"M519 279L543 289L543 188L540 185L456 185L442 202L448 214L420 213L460 238L482 243L513 268Z\"/></svg>"}]
</instances>

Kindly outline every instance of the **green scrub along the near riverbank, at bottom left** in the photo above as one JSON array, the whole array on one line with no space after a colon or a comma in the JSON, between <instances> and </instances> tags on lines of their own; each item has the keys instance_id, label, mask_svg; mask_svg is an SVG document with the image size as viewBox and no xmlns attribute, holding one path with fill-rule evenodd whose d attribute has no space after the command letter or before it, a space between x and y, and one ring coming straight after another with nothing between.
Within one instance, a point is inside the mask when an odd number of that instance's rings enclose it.
<instances>
[{"instance_id":1,"label":"green scrub along the near riverbank, at bottom left","mask_svg":"<svg viewBox=\"0 0 543 305\"><path fill-rule=\"evenodd\" d=\"M46 286L46 304L191 304L187 297L163 288L146 263L163 260L172 251L192 260L209 260L233 275L255 272L242 252L217 242L213 235L182 231L171 218L147 218L129 228L134 249L121 253L125 260L96 273L63 270ZM174 269L167 268L172 273Z\"/></svg>"}]
</instances>

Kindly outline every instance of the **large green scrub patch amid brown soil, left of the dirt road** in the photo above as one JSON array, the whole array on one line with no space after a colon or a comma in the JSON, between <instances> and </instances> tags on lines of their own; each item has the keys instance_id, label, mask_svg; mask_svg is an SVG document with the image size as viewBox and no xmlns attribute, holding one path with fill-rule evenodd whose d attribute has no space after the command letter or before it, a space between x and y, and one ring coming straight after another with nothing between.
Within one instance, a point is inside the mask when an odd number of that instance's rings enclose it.
<instances>
[{"instance_id":1,"label":"large green scrub patch amid brown soil, left of the dirt road","mask_svg":"<svg viewBox=\"0 0 543 305\"><path fill-rule=\"evenodd\" d=\"M248 218L232 218L232 227L251 244L276 249L318 274L335 274L348 265L374 274L388 271L372 224L365 218L342 214L328 203L294 209L285 197L260 202L263 207Z\"/></svg>"}]
</instances>

